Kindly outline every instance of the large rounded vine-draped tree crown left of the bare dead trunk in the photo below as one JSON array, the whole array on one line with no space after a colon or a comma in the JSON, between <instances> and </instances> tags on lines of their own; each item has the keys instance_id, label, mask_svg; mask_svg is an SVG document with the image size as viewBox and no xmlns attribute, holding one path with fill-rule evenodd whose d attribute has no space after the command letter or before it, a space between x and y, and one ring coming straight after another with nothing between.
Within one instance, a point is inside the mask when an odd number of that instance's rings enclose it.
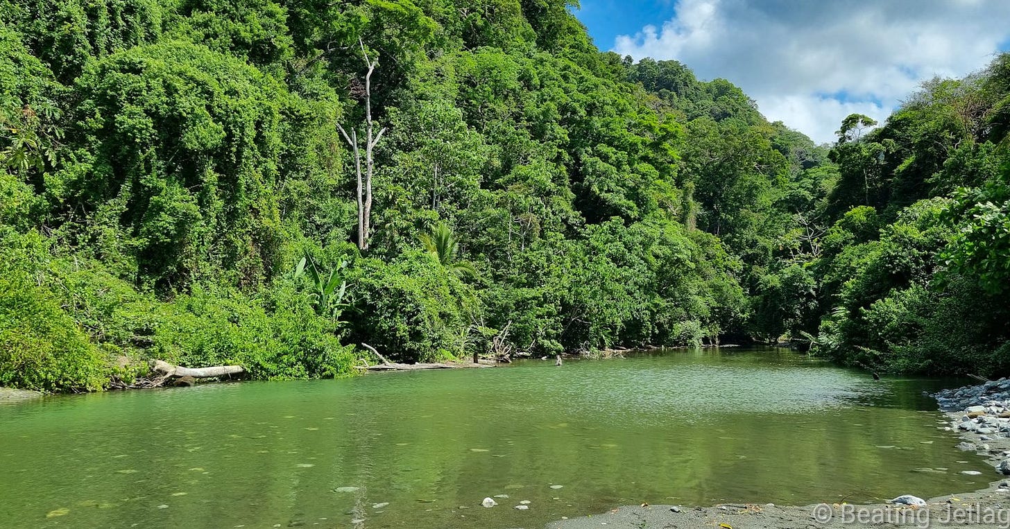
<instances>
[{"instance_id":1,"label":"large rounded vine-draped tree crown left of the bare dead trunk","mask_svg":"<svg viewBox=\"0 0 1010 529\"><path fill-rule=\"evenodd\" d=\"M112 56L78 87L78 133L103 145L91 167L108 169L77 194L90 204L125 200L123 228L137 237L145 275L178 286L225 266L236 281L263 281L276 260L281 113L293 96L251 67L179 41ZM246 258L249 247L258 259Z\"/></svg>"}]
</instances>

